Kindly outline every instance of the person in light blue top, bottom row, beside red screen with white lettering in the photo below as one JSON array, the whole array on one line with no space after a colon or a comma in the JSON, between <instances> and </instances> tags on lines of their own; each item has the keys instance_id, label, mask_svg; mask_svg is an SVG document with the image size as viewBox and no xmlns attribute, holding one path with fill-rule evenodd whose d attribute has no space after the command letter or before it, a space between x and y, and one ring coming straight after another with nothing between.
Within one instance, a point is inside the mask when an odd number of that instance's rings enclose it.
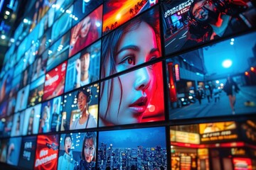
<instances>
[{"instance_id":1,"label":"person in light blue top, bottom row, beside red screen with white lettering","mask_svg":"<svg viewBox=\"0 0 256 170\"><path fill-rule=\"evenodd\" d=\"M73 140L70 134L64 137L65 153L58 158L58 170L73 170L75 166L75 159L73 159L72 152Z\"/></svg>"}]
</instances>

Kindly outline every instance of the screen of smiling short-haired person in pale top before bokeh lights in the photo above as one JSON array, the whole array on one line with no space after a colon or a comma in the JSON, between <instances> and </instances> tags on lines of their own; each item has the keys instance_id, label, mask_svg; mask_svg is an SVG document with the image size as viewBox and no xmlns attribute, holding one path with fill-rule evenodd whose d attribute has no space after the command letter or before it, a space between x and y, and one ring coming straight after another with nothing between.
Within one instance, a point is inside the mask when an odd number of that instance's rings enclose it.
<instances>
[{"instance_id":1,"label":"screen of smiling short-haired person in pale top before bokeh lights","mask_svg":"<svg viewBox=\"0 0 256 170\"><path fill-rule=\"evenodd\" d=\"M99 89L93 84L64 95L60 130L97 128Z\"/></svg>"}]
</instances>

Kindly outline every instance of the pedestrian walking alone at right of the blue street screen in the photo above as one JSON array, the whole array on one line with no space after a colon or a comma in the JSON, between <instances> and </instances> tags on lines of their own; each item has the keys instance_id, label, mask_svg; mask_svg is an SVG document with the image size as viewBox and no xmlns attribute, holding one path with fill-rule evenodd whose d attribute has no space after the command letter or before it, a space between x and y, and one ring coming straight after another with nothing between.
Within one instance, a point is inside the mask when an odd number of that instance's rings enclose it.
<instances>
[{"instance_id":1,"label":"pedestrian walking alone at right of the blue street screen","mask_svg":"<svg viewBox=\"0 0 256 170\"><path fill-rule=\"evenodd\" d=\"M235 83L232 77L228 76L225 86L223 87L223 90L227 94L228 99L230 101L232 114L235 114L235 96L240 91L240 89L238 88L238 84Z\"/></svg>"}]
</instances>

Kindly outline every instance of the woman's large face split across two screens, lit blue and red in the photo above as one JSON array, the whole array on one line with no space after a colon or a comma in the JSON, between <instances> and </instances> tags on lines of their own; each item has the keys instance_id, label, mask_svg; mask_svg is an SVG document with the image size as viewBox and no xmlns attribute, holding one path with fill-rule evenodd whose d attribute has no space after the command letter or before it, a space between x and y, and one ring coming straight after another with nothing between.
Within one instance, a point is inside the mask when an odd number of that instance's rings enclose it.
<instances>
[{"instance_id":1,"label":"woman's large face split across two screens, lit blue and red","mask_svg":"<svg viewBox=\"0 0 256 170\"><path fill-rule=\"evenodd\" d=\"M142 22L122 36L114 56L115 69L121 72L157 57L160 52L154 29ZM107 125L139 123L156 89L155 81L154 64L105 81L100 103L102 121Z\"/></svg>"}]
</instances>

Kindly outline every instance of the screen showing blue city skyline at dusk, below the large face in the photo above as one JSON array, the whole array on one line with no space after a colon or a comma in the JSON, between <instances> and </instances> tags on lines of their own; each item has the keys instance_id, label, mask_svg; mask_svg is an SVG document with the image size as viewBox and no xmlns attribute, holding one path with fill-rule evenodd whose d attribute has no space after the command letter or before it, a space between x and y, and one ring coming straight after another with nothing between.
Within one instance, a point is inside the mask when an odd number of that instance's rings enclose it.
<instances>
[{"instance_id":1,"label":"screen showing blue city skyline at dusk, below the large face","mask_svg":"<svg viewBox=\"0 0 256 170\"><path fill-rule=\"evenodd\" d=\"M99 169L167 169L165 128L99 133Z\"/></svg>"}]
</instances>

